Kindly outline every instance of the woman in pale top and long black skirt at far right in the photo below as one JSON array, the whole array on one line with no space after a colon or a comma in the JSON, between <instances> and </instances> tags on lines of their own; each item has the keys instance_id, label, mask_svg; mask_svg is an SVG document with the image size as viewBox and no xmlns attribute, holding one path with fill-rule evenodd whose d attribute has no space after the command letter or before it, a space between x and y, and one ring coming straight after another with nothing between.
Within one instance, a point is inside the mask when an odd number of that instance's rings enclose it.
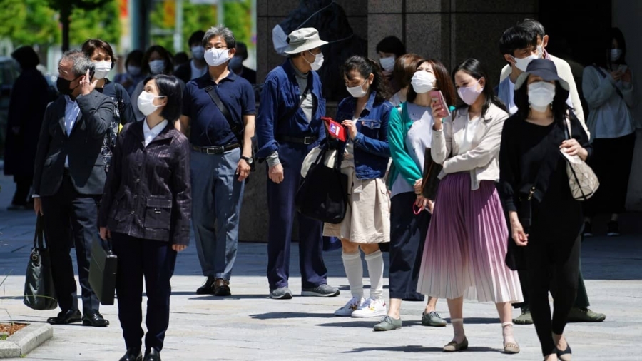
<instances>
[{"instance_id":1,"label":"woman in pale top and long black skirt at far right","mask_svg":"<svg viewBox=\"0 0 642 361\"><path fill-rule=\"evenodd\" d=\"M611 215L606 235L620 235L618 214L624 211L631 176L636 126L631 108L636 106L633 75L626 65L626 43L620 29L611 29L598 62L584 68L582 91L588 104L588 129L593 141L591 167L600 188L584 204L584 235L593 235L591 218Z\"/></svg>"}]
</instances>

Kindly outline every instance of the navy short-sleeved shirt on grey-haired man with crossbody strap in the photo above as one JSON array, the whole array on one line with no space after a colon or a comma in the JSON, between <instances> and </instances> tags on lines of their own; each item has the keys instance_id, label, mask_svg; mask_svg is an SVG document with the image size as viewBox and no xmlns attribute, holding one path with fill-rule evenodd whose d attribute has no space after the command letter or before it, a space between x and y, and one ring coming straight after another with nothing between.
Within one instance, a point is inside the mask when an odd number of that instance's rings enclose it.
<instances>
[{"instance_id":1,"label":"navy short-sleeved shirt on grey-haired man with crossbody strap","mask_svg":"<svg viewBox=\"0 0 642 361\"><path fill-rule=\"evenodd\" d=\"M240 143L230 123L205 88L213 86L220 101L228 108L235 123L243 126L243 116L253 116L256 113L254 89L244 78L230 71L227 77L215 83L209 73L195 78L185 85L183 91L183 116L190 118L190 143L195 146L225 146L230 143Z\"/></svg>"}]
</instances>

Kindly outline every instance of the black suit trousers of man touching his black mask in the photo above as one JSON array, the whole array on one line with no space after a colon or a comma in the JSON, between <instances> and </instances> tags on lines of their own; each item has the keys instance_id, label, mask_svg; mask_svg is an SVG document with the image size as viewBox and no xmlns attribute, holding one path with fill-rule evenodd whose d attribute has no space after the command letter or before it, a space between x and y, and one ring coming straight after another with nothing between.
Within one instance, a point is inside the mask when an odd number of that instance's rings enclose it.
<instances>
[{"instance_id":1,"label":"black suit trousers of man touching his black mask","mask_svg":"<svg viewBox=\"0 0 642 361\"><path fill-rule=\"evenodd\" d=\"M98 204L100 195L83 195L73 188L71 178L64 176L56 195L42 197L44 233L51 257L58 306L63 312L78 310L76 279L73 278L71 245L76 248L78 280L80 281L83 312L98 310L96 293L89 285L91 241L98 233Z\"/></svg>"}]
</instances>

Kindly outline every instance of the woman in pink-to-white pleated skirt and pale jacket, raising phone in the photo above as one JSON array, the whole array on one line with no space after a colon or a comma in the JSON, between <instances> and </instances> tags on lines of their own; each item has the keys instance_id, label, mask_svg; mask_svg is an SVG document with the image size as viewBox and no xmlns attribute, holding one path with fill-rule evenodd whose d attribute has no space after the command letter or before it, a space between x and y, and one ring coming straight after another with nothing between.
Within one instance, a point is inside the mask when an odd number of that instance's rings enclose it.
<instances>
[{"instance_id":1,"label":"woman in pink-to-white pleated skirt and pale jacket, raising phone","mask_svg":"<svg viewBox=\"0 0 642 361\"><path fill-rule=\"evenodd\" d=\"M511 302L521 302L517 273L504 263L508 228L495 188L499 180L501 129L508 118L477 59L454 71L466 103L449 119L433 106L432 159L444 166L429 225L418 292L446 298L454 329L444 352L466 350L464 298L494 302L504 335L504 352L517 353ZM451 120L454 118L454 120Z\"/></svg>"}]
</instances>

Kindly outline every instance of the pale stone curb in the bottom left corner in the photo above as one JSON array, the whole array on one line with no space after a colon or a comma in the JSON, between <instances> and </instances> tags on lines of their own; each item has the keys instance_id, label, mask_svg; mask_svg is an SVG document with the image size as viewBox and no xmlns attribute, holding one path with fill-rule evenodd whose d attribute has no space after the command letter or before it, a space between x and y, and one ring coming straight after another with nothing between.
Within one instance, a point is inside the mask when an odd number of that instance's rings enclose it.
<instances>
[{"instance_id":1,"label":"pale stone curb in the bottom left corner","mask_svg":"<svg viewBox=\"0 0 642 361\"><path fill-rule=\"evenodd\" d=\"M0 341L0 358L24 356L53 336L54 327L51 325L32 323Z\"/></svg>"}]
</instances>

